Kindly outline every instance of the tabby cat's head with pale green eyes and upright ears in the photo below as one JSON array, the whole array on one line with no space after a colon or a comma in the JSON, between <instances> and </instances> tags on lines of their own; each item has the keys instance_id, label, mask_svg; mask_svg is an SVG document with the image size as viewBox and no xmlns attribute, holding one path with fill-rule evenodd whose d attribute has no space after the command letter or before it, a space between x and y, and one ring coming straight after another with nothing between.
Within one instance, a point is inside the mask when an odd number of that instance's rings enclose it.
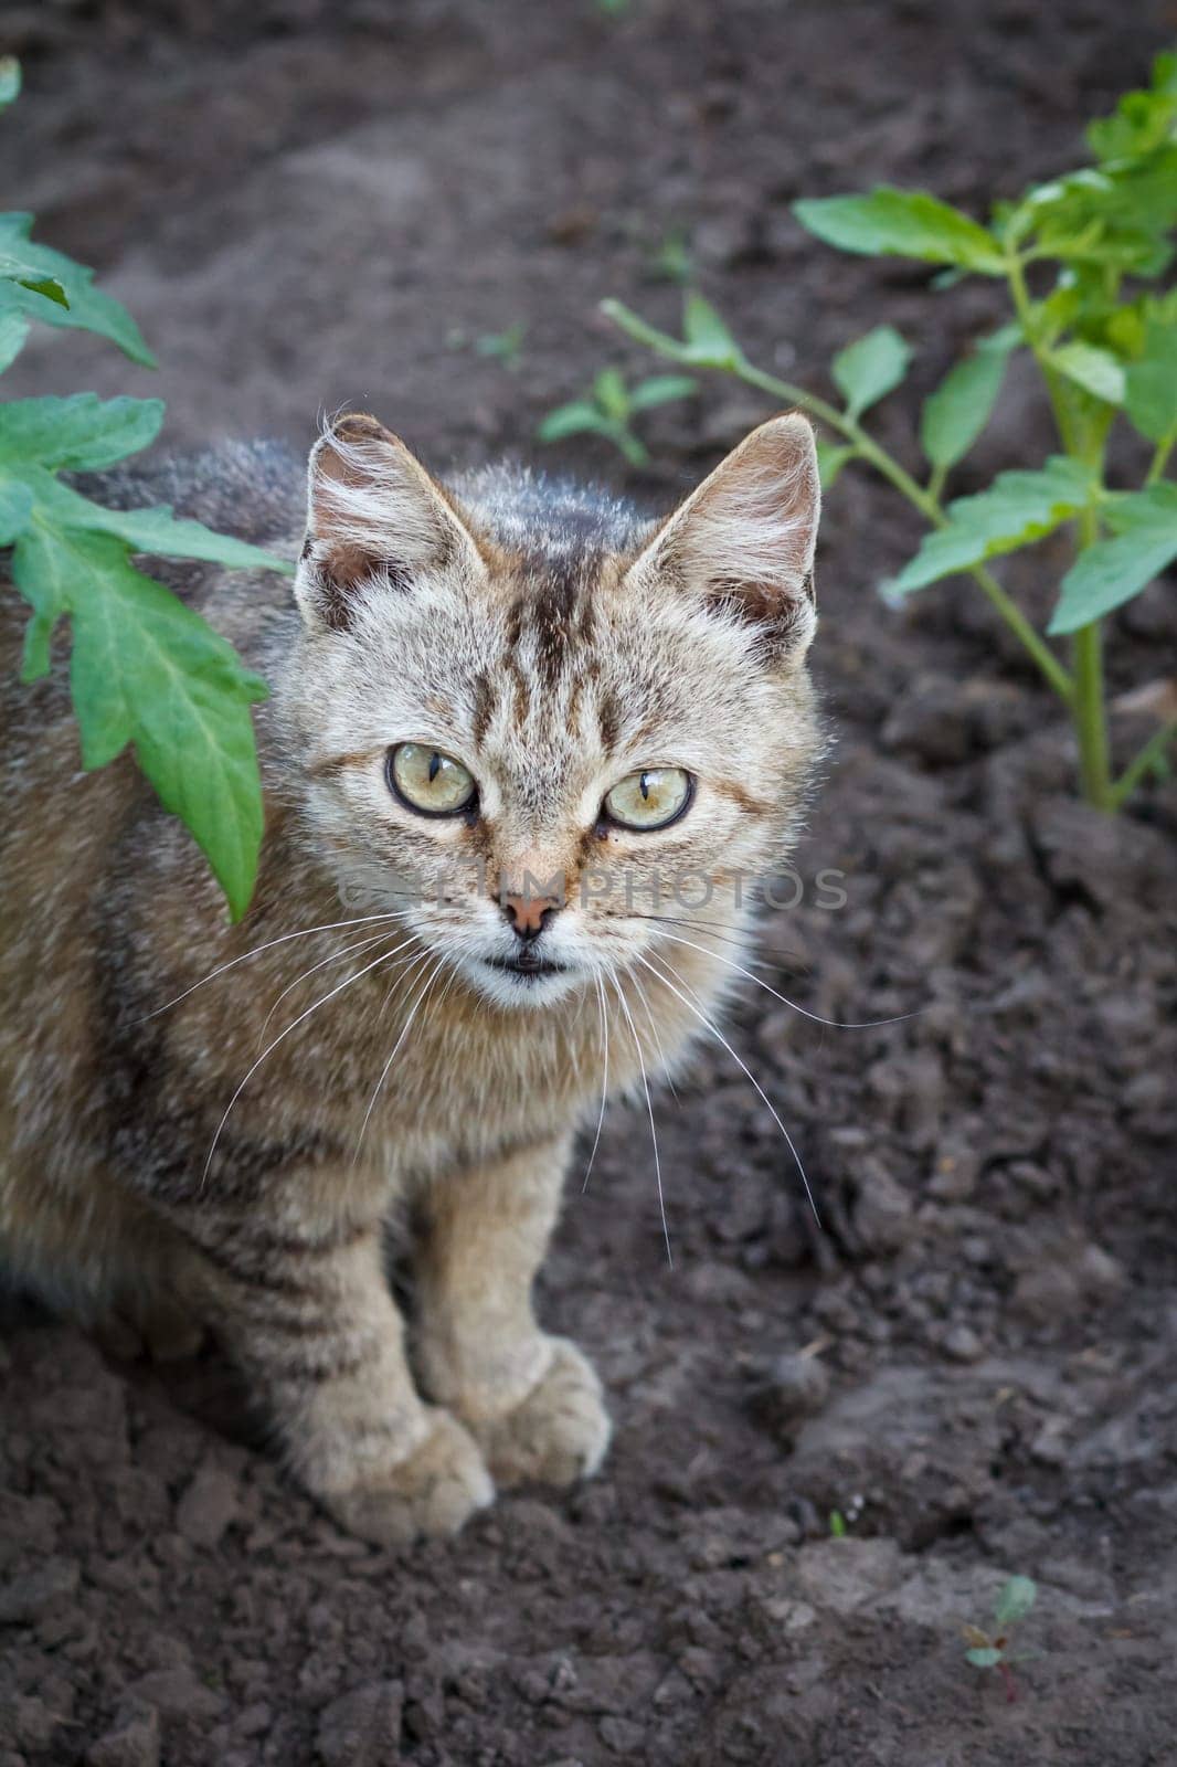
<instances>
[{"instance_id":1,"label":"tabby cat's head with pale green eyes and upright ears","mask_svg":"<svg viewBox=\"0 0 1177 1767\"><path fill-rule=\"evenodd\" d=\"M375 419L336 422L283 700L350 910L516 1007L737 922L816 747L816 521L799 415L654 523L527 474L449 489Z\"/></svg>"}]
</instances>

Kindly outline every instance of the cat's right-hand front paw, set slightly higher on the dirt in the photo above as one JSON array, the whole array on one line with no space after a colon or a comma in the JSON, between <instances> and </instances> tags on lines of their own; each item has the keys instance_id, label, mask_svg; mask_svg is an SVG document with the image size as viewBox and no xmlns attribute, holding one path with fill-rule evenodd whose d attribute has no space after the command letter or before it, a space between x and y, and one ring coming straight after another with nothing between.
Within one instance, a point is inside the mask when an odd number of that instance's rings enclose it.
<instances>
[{"instance_id":1,"label":"cat's right-hand front paw, set slightly higher on the dirt","mask_svg":"<svg viewBox=\"0 0 1177 1767\"><path fill-rule=\"evenodd\" d=\"M597 1371L567 1338L551 1345L551 1362L518 1405L470 1424L497 1484L574 1484L604 1460L611 1426Z\"/></svg>"}]
</instances>

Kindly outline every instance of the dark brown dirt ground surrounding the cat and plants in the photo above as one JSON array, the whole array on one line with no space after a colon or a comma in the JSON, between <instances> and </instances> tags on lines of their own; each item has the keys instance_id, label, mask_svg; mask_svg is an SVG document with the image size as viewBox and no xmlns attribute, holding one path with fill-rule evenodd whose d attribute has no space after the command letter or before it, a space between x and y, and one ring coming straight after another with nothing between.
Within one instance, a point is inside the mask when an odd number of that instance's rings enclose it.
<instances>
[{"instance_id":1,"label":"dark brown dirt ground surrounding the cat and plants","mask_svg":"<svg viewBox=\"0 0 1177 1767\"><path fill-rule=\"evenodd\" d=\"M438 468L511 449L622 482L604 445L530 436L604 360L642 366L596 306L670 322L650 263L682 228L753 357L818 385L887 318L924 391L990 292L839 258L790 200L1013 194L1173 23L1147 0L9 5L5 207L99 265L164 366L55 334L5 387L163 392L177 445L304 445L320 408L368 405ZM516 322L514 369L472 348ZM629 488L668 500L763 410L710 383ZM900 445L912 410L882 413ZM1014 380L961 488L1046 444ZM543 1279L610 1387L610 1461L403 1557L285 1483L216 1357L125 1369L9 1309L0 1767L1173 1762L1177 790L1117 827L1080 808L1055 705L970 587L877 599L912 544L848 474L815 652L836 744L760 974L825 1018L919 1016L829 1030L751 984L735 1012L824 1230L705 1053L656 1106L670 1269L649 1122L611 1108ZM1009 576L1036 608L1039 571ZM1117 689L1177 668L1165 595L1115 622ZM1009 1573L1039 1583L1013 1703L961 1638Z\"/></svg>"}]
</instances>

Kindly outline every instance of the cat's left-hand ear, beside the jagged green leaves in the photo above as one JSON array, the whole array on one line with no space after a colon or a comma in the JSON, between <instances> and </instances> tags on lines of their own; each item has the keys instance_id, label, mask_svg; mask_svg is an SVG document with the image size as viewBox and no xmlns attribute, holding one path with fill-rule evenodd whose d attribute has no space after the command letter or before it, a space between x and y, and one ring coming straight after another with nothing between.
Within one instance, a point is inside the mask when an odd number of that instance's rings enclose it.
<instances>
[{"instance_id":1,"label":"cat's left-hand ear, beside the jagged green leaves","mask_svg":"<svg viewBox=\"0 0 1177 1767\"><path fill-rule=\"evenodd\" d=\"M311 627L346 629L364 588L481 555L449 497L375 417L339 417L311 449L295 595Z\"/></svg>"}]
</instances>

